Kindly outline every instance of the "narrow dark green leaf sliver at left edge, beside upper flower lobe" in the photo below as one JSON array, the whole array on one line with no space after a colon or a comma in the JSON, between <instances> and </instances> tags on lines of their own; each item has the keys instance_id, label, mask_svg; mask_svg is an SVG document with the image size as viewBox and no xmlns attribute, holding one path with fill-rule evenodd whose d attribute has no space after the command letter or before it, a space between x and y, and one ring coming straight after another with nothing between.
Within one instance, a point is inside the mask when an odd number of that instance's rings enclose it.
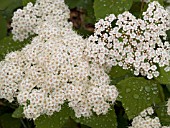
<instances>
[{"instance_id":1,"label":"narrow dark green leaf sliver at left edge, beside upper flower lobe","mask_svg":"<svg viewBox=\"0 0 170 128\"><path fill-rule=\"evenodd\" d=\"M0 40L7 35L7 21L0 13Z\"/></svg>"}]
</instances>

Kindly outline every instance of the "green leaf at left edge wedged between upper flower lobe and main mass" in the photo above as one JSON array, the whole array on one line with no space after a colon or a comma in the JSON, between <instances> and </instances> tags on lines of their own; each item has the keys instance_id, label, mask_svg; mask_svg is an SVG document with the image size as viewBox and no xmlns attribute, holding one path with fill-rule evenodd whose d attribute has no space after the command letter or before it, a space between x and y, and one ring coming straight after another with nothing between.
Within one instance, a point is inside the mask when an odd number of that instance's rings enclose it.
<instances>
[{"instance_id":1,"label":"green leaf at left edge wedged between upper flower lobe and main mass","mask_svg":"<svg viewBox=\"0 0 170 128\"><path fill-rule=\"evenodd\" d=\"M11 36L3 38L0 40L0 61L4 59L7 53L21 50L28 43L30 43L30 39L19 42L14 41Z\"/></svg>"}]
</instances>

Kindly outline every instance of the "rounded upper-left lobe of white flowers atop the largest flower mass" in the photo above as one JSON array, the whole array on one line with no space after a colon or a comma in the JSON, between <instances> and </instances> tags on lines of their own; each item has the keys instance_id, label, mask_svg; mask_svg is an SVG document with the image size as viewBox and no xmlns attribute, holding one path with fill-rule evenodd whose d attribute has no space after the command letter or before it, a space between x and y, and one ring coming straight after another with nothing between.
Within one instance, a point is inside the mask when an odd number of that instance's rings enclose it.
<instances>
[{"instance_id":1,"label":"rounded upper-left lobe of white flowers atop the largest flower mass","mask_svg":"<svg viewBox=\"0 0 170 128\"><path fill-rule=\"evenodd\" d=\"M14 12L11 24L13 39L23 41L30 35L39 34L45 21L53 20L58 26L65 27L70 14L63 1L36 0L35 5L30 2L23 9Z\"/></svg>"}]
</instances>

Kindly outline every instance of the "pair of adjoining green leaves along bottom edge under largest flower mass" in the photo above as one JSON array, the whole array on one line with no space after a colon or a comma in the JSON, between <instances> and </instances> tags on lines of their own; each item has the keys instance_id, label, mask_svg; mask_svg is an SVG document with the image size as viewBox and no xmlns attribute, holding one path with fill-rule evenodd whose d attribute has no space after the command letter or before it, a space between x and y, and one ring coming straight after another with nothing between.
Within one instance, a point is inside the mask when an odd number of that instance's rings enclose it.
<instances>
[{"instance_id":1,"label":"pair of adjoining green leaves along bottom edge under largest flower mass","mask_svg":"<svg viewBox=\"0 0 170 128\"><path fill-rule=\"evenodd\" d=\"M66 104L62 107L60 112L54 113L52 116L48 117L46 115L39 117L35 120L36 128L57 128L62 127L70 118L74 119L77 123L81 123L92 128L110 128L116 127L116 115L114 109L110 110L109 113L102 116L97 116L93 114L90 118L76 118L74 111L71 110Z\"/></svg>"}]
</instances>

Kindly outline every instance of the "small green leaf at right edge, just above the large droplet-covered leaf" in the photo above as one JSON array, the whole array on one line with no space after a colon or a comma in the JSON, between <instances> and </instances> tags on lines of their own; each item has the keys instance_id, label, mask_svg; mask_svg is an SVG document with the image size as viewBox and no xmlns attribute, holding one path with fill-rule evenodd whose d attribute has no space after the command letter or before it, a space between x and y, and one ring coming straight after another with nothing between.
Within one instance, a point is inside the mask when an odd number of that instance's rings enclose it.
<instances>
[{"instance_id":1,"label":"small green leaf at right edge, just above the large droplet-covered leaf","mask_svg":"<svg viewBox=\"0 0 170 128\"><path fill-rule=\"evenodd\" d=\"M160 75L155 78L161 84L170 84L170 71L166 72L163 67L159 69Z\"/></svg>"}]
</instances>

